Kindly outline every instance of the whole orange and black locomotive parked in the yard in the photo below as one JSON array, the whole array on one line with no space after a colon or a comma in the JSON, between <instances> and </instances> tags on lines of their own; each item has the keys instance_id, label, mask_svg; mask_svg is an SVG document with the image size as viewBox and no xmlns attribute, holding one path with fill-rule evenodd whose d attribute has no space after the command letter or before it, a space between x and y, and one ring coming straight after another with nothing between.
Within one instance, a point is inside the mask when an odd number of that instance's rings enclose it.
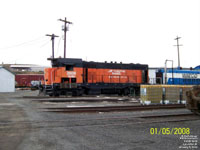
<instances>
[{"instance_id":1,"label":"whole orange and black locomotive parked in the yard","mask_svg":"<svg viewBox=\"0 0 200 150\"><path fill-rule=\"evenodd\" d=\"M45 69L44 91L50 96L82 94L138 94L148 81L148 65L88 62L82 59L54 58Z\"/></svg>"}]
</instances>

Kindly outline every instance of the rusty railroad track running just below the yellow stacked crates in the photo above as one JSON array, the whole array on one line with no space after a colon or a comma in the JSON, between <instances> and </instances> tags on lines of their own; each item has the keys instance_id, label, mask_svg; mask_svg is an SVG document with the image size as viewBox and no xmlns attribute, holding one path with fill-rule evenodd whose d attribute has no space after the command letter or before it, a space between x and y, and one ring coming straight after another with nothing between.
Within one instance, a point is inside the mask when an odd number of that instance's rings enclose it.
<instances>
[{"instance_id":1,"label":"rusty railroad track running just below the yellow stacked crates","mask_svg":"<svg viewBox=\"0 0 200 150\"><path fill-rule=\"evenodd\" d=\"M144 111L154 109L181 109L183 104L168 105L128 105L128 106L97 106L97 107L46 107L40 108L47 112L82 113L82 112L111 112L111 111Z\"/></svg>"}]
</instances>

